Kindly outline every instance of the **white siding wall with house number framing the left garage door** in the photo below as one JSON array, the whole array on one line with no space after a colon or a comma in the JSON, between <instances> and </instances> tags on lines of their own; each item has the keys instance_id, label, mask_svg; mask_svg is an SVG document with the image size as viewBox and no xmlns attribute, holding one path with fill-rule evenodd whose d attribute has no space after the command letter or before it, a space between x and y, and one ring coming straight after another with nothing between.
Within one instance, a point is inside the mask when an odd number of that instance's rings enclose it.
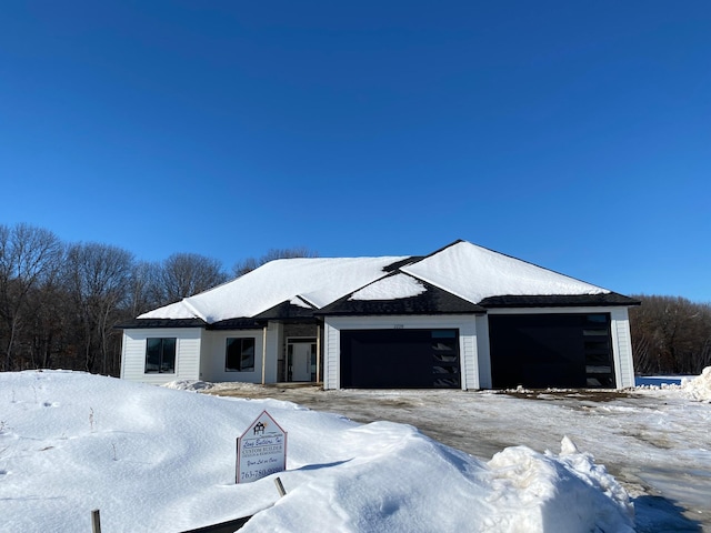
<instances>
[{"instance_id":1,"label":"white siding wall with house number framing the left garage door","mask_svg":"<svg viewBox=\"0 0 711 533\"><path fill-rule=\"evenodd\" d=\"M462 389L479 389L477 323L473 315L330 316L324 322L323 389L340 389L341 330L459 329Z\"/></svg>"}]
</instances>

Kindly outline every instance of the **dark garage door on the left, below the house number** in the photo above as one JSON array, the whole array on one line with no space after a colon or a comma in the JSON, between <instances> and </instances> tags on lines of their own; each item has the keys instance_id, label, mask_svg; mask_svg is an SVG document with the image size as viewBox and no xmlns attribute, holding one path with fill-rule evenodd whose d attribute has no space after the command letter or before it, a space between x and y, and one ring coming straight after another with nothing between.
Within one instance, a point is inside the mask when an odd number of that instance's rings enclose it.
<instances>
[{"instance_id":1,"label":"dark garage door on the left, below the house number","mask_svg":"<svg viewBox=\"0 0 711 533\"><path fill-rule=\"evenodd\" d=\"M459 332L341 330L341 386L459 388Z\"/></svg>"}]
</instances>

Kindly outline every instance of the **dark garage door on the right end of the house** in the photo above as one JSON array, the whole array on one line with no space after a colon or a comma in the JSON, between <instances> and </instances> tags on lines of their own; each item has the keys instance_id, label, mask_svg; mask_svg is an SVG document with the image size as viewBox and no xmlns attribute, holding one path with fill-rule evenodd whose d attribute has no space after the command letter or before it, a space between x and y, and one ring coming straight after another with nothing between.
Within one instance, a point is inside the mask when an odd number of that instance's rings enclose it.
<instances>
[{"instance_id":1,"label":"dark garage door on the right end of the house","mask_svg":"<svg viewBox=\"0 0 711 533\"><path fill-rule=\"evenodd\" d=\"M614 388L610 315L489 315L494 389Z\"/></svg>"}]
</instances>

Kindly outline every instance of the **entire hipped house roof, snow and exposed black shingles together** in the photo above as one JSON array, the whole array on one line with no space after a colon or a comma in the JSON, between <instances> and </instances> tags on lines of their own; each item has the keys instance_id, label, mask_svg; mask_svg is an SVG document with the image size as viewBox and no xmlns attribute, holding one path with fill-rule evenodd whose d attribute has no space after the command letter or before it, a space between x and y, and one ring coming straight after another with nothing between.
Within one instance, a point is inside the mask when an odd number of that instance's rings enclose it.
<instances>
[{"instance_id":1,"label":"entire hipped house roof, snow and exposed black shingles together","mask_svg":"<svg viewBox=\"0 0 711 533\"><path fill-rule=\"evenodd\" d=\"M535 264L455 241L427 257L297 258L140 315L209 329L324 314L481 313L489 308L635 305ZM190 322L190 321L194 322ZM152 322L151 322L152 321Z\"/></svg>"}]
</instances>

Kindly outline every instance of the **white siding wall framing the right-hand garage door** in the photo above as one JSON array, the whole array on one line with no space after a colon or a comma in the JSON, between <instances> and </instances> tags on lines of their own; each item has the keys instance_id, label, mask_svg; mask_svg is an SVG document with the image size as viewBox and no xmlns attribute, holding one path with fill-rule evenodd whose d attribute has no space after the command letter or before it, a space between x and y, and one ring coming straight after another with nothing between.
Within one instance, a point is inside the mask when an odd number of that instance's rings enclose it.
<instances>
[{"instance_id":1,"label":"white siding wall framing the right-hand garage door","mask_svg":"<svg viewBox=\"0 0 711 533\"><path fill-rule=\"evenodd\" d=\"M609 313L610 333L612 336L612 358L614 364L614 378L618 389L634 386L634 363L632 359L632 338L630 335L630 322L627 308L521 308L521 309L490 309L489 314L579 314L579 313ZM485 330L489 331L489 319L483 316ZM479 325L479 324L478 324ZM483 325L483 324L482 324ZM481 331L481 329L480 329ZM489 350L487 339L487 350ZM487 359L491 359L488 354Z\"/></svg>"}]
</instances>

